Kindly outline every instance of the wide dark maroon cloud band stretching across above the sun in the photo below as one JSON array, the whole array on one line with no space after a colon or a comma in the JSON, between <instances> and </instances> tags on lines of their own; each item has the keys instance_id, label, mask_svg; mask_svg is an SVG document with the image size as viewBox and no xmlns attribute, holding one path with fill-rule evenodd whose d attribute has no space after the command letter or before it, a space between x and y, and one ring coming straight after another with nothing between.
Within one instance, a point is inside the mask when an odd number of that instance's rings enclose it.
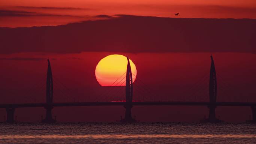
<instances>
[{"instance_id":1,"label":"wide dark maroon cloud band stretching across above the sun","mask_svg":"<svg viewBox=\"0 0 256 144\"><path fill-rule=\"evenodd\" d=\"M56 27L0 28L1 53L256 53L256 19L119 15Z\"/></svg>"}]
</instances>

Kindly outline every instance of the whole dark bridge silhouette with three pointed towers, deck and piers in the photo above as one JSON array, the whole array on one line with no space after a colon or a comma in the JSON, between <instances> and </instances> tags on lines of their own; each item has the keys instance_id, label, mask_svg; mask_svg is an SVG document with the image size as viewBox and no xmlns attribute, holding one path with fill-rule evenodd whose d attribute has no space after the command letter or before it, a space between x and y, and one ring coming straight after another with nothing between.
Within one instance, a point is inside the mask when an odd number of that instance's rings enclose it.
<instances>
[{"instance_id":1,"label":"whole dark bridge silhouette with three pointed towers, deck and piers","mask_svg":"<svg viewBox=\"0 0 256 144\"><path fill-rule=\"evenodd\" d=\"M201 119L201 122L223 122L216 118L215 109L217 106L241 106L251 107L252 120L246 122L256 122L256 102L218 102L217 99L217 79L216 70L211 56L211 67L210 67L210 79L209 79L209 101L134 101L133 100L133 89L136 88L133 85L134 76L131 71L131 65L129 58L127 57L127 71L125 76L125 101L91 101L91 102L53 102L54 100L54 85L53 75L51 70L51 64L48 59L48 71L46 77L46 102L44 103L21 103L21 104L0 104L0 108L5 108L7 113L6 122L12 123L14 120L14 113L16 108L25 107L44 107L46 109L46 116L42 122L56 122L52 118L52 109L54 107L71 107L71 106L108 106L108 105L121 105L125 108L125 117L121 119L121 122L136 122L132 118L132 106L134 105L191 105L191 106L207 106L209 113L207 119ZM122 85L122 84L121 84Z\"/></svg>"}]
</instances>

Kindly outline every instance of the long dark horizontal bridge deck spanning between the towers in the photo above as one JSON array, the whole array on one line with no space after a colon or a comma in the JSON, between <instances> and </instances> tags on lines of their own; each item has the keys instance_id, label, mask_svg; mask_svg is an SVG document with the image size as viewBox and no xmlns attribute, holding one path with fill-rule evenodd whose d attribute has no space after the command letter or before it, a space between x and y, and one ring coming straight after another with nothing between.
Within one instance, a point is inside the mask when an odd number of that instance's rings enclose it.
<instances>
[{"instance_id":1,"label":"long dark horizontal bridge deck spanning between the towers","mask_svg":"<svg viewBox=\"0 0 256 144\"><path fill-rule=\"evenodd\" d=\"M126 105L127 102L60 102L52 103L53 107L71 107L71 106L111 106L111 105ZM148 101L148 102L131 102L131 105L216 105L216 106L256 106L256 102L216 102L214 104L210 102L182 102L182 101ZM45 107L47 103L27 103L27 104L0 104L0 108L22 108L22 107Z\"/></svg>"}]
</instances>

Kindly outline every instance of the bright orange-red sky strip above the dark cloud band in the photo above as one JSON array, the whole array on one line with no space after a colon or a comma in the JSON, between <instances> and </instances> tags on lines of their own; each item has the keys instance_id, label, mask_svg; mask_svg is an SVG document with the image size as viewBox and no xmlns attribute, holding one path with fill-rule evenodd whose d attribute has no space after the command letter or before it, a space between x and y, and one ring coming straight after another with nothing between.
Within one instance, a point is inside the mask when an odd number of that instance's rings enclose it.
<instances>
[{"instance_id":1,"label":"bright orange-red sky strip above the dark cloud band","mask_svg":"<svg viewBox=\"0 0 256 144\"><path fill-rule=\"evenodd\" d=\"M255 0L1 0L1 27L60 25L95 15L179 18L256 18ZM15 12L18 11L18 12ZM30 12L30 13L24 13ZM17 15L19 14L19 15ZM29 16L28 16L29 15Z\"/></svg>"}]
</instances>

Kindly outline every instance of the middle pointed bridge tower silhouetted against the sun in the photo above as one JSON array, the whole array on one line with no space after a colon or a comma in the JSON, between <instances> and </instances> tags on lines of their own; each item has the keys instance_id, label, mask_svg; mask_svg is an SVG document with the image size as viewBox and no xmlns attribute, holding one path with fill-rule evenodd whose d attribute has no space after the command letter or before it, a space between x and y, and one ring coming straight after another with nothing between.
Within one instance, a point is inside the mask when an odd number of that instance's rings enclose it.
<instances>
[{"instance_id":1,"label":"middle pointed bridge tower silhouetted against the sun","mask_svg":"<svg viewBox=\"0 0 256 144\"><path fill-rule=\"evenodd\" d=\"M133 85L132 85L132 71L129 58L127 57L127 70L126 70L126 83L125 83L125 118L121 119L121 122L129 123L136 122L135 119L132 119L131 108L132 108L132 94L133 94Z\"/></svg>"}]
</instances>

